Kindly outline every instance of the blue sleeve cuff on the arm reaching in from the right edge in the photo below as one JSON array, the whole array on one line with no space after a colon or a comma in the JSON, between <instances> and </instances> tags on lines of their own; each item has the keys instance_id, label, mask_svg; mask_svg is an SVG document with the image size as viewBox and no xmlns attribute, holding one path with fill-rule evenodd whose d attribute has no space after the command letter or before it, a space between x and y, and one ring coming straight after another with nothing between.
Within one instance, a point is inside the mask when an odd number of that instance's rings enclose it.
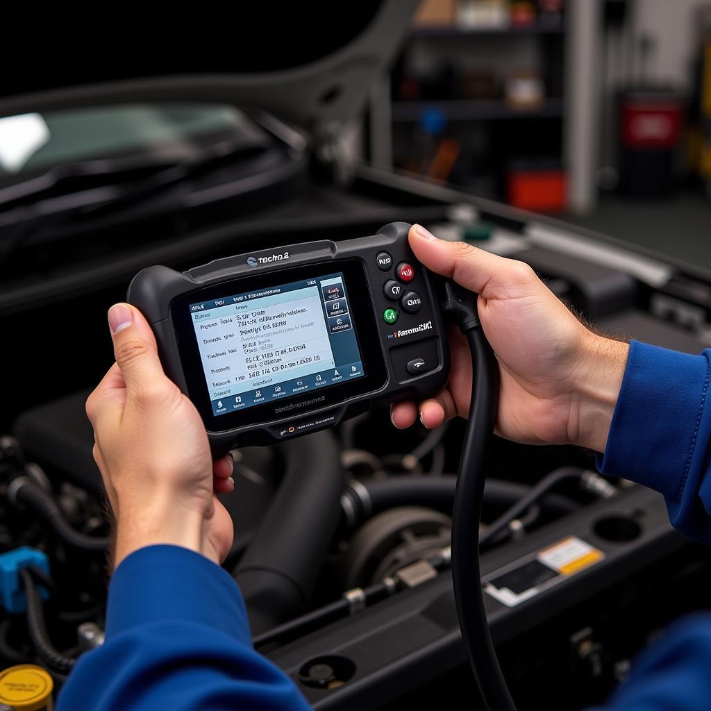
<instances>
[{"instance_id":1,"label":"blue sleeve cuff on the arm reaching in from the right edge","mask_svg":"<svg viewBox=\"0 0 711 711\"><path fill-rule=\"evenodd\" d=\"M711 351L687 355L632 341L602 474L663 494L671 523L711 542Z\"/></svg>"}]
</instances>

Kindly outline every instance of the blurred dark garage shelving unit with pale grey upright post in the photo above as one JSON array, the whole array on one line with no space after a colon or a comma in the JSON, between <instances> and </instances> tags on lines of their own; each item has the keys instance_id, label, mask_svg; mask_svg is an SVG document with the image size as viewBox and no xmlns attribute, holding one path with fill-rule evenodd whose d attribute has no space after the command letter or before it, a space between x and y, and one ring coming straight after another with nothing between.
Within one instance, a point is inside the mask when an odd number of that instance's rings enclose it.
<instances>
[{"instance_id":1,"label":"blurred dark garage shelving unit with pale grey upright post","mask_svg":"<svg viewBox=\"0 0 711 711\"><path fill-rule=\"evenodd\" d=\"M393 98L393 75L373 86L370 104L370 158L374 164L402 169L408 144L413 151L422 140L420 124L427 112L437 112L446 127L443 135L464 144L467 137L479 146L471 164L491 171L491 180L462 183L472 192L503 199L501 173L509 161L546 157L567 170L568 207L584 211L592 206L595 189L595 117L598 110L596 38L599 6L587 0L568 0L560 23L536 23L503 28L413 27L402 49L400 70L408 53L430 58L459 55L470 66L483 68L508 60L520 69L535 70L547 95L539 105L512 107L503 98L451 97ZM470 57L471 55L471 57ZM517 60L515 57L522 59ZM485 57L484 59L482 59ZM513 59L512 59L513 57ZM526 66L524 59L533 58ZM397 67L397 65L396 65ZM397 73L397 69L396 69ZM483 149L481 148L483 146ZM404 148L403 148L404 147ZM498 171L498 174L495 174ZM460 176L461 177L461 176ZM479 176L481 178L481 175Z\"/></svg>"}]
</instances>

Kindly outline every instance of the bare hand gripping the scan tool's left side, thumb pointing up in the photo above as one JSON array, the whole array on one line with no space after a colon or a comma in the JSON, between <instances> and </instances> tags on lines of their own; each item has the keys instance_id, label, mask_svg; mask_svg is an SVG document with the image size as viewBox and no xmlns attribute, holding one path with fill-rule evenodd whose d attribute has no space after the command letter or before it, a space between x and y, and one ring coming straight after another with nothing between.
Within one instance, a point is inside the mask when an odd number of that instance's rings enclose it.
<instances>
[{"instance_id":1,"label":"bare hand gripping the scan tool's left side, thumb pointing up","mask_svg":"<svg viewBox=\"0 0 711 711\"><path fill-rule=\"evenodd\" d=\"M215 492L234 488L232 457L213 462L201 417L164 374L141 313L116 304L109 328L116 363L87 400L87 415L117 522L114 565L155 543L219 563L234 529Z\"/></svg>"}]
</instances>

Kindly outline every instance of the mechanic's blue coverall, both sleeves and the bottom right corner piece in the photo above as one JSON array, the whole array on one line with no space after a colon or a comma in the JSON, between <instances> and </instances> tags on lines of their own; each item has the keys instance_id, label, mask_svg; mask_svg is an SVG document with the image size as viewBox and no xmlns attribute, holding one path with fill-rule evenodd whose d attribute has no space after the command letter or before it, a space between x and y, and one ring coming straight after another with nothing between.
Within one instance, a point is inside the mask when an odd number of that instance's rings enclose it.
<instances>
[{"instance_id":1,"label":"mechanic's blue coverall, both sleeves and the bottom right corner piece","mask_svg":"<svg viewBox=\"0 0 711 711\"><path fill-rule=\"evenodd\" d=\"M711 351L631 344L606 451L598 461L659 491L685 535L711 542ZM106 641L85 653L58 711L271 711L308 708L252 648L235 581L189 550L129 555L109 586ZM632 665L609 710L711 708L711 614L673 626Z\"/></svg>"}]
</instances>

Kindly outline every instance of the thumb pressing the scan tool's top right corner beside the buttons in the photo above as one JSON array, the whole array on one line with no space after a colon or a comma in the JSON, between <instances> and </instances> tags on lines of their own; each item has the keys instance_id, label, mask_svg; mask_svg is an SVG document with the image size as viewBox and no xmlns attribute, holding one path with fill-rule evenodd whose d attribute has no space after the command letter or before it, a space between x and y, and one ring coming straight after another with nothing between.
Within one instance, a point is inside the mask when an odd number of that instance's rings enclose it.
<instances>
[{"instance_id":1,"label":"thumb pressing the scan tool's top right corner beside the buttons","mask_svg":"<svg viewBox=\"0 0 711 711\"><path fill-rule=\"evenodd\" d=\"M438 240L422 225L412 225L409 240L415 256L427 269L454 279L476 294L482 294L493 277L506 276L506 272L518 264L466 242Z\"/></svg>"}]
</instances>

